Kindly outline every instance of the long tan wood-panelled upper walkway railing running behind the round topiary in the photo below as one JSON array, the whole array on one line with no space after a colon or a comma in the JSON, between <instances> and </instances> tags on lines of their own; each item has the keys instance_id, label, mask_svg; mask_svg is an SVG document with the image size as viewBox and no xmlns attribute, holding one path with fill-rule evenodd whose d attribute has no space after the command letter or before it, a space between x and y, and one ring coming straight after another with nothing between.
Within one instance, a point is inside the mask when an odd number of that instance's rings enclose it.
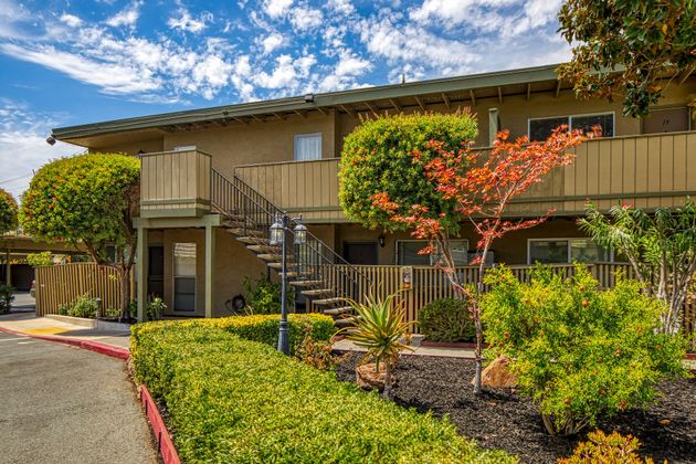
<instances>
[{"instance_id":1,"label":"long tan wood-panelled upper walkway railing running behind the round topiary","mask_svg":"<svg viewBox=\"0 0 696 464\"><path fill-rule=\"evenodd\" d=\"M574 154L571 166L551 171L510 204L509 214L553 209L557 215L577 215L587 199L603 210L621 201L654 209L696 194L696 131L588 140ZM338 202L338 161L241 166L235 175L307 222L346 222Z\"/></svg>"}]
</instances>

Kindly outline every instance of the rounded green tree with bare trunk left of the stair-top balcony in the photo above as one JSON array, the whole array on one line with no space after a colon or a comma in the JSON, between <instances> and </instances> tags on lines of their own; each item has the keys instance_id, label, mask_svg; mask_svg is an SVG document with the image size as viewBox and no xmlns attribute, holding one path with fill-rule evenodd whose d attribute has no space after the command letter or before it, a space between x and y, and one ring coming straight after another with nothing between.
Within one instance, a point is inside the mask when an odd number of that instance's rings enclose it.
<instances>
[{"instance_id":1,"label":"rounded green tree with bare trunk left of the stair-top balcony","mask_svg":"<svg viewBox=\"0 0 696 464\"><path fill-rule=\"evenodd\" d=\"M22 196L20 221L29 234L83 243L92 259L114 265L122 282L122 317L130 300L135 259L133 218L139 205L140 162L126 155L89 154L43 166ZM116 249L115 263L107 246Z\"/></svg>"}]
</instances>

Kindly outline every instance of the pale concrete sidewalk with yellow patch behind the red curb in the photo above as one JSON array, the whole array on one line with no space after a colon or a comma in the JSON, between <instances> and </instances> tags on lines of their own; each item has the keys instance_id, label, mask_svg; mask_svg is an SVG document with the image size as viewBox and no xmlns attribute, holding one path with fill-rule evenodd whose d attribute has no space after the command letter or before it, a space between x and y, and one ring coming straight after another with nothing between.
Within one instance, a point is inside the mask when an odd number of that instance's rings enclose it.
<instances>
[{"instance_id":1,"label":"pale concrete sidewalk with yellow patch behind the red curb","mask_svg":"<svg viewBox=\"0 0 696 464\"><path fill-rule=\"evenodd\" d=\"M33 313L11 313L0 316L0 328L29 336L49 335L76 340L98 341L119 348L128 348L130 345L130 333L126 330L96 330L48 317L36 317Z\"/></svg>"}]
</instances>

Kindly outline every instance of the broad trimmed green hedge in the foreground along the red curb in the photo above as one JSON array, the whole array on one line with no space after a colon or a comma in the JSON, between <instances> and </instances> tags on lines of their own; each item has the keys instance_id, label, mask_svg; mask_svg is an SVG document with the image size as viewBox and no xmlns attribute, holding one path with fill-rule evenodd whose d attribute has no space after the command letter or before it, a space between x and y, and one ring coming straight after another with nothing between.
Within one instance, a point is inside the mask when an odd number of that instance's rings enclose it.
<instances>
[{"instance_id":1,"label":"broad trimmed green hedge in the foreground along the red curb","mask_svg":"<svg viewBox=\"0 0 696 464\"><path fill-rule=\"evenodd\" d=\"M515 462L215 325L133 329L136 377L166 403L183 462Z\"/></svg>"}]
</instances>

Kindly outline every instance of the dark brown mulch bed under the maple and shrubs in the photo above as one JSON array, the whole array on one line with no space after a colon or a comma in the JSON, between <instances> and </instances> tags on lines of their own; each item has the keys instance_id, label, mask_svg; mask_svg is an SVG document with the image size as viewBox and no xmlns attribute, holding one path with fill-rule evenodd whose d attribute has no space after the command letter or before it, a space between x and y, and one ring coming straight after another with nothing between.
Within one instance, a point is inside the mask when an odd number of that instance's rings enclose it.
<instances>
[{"instance_id":1,"label":"dark brown mulch bed under the maple and shrubs","mask_svg":"<svg viewBox=\"0 0 696 464\"><path fill-rule=\"evenodd\" d=\"M356 354L336 369L339 380L355 381ZM555 463L572 454L586 433L574 439L546 433L538 409L525 398L506 390L472 392L472 360L403 356L393 400L403 407L449 414L460 433L484 447L503 449L525 463ZM656 463L696 463L696 379L661 386L665 396L647 411L626 411L598 428L607 433L633 434L643 443L641 454Z\"/></svg>"}]
</instances>

